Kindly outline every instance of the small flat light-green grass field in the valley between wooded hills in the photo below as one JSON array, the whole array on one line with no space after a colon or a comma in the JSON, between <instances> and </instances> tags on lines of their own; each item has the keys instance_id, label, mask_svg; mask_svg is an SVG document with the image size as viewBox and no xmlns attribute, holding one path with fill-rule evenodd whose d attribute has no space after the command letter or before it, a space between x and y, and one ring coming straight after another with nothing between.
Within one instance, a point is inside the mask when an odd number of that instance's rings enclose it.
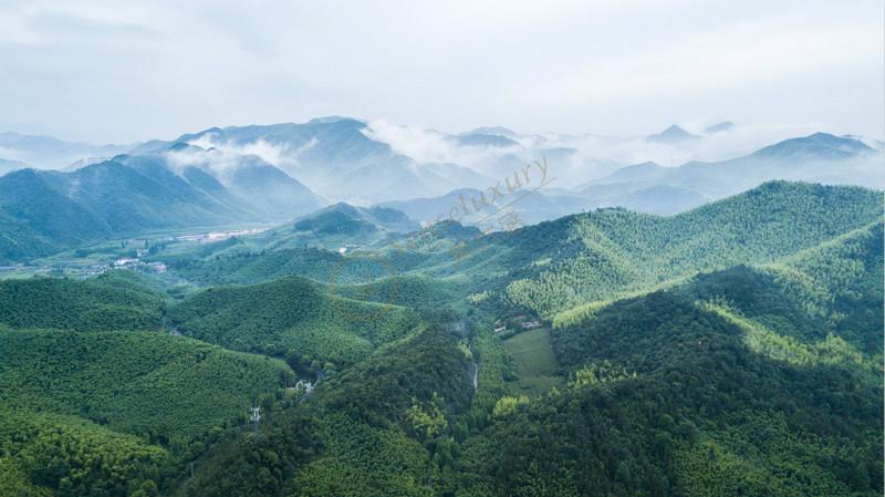
<instances>
[{"instance_id":1,"label":"small flat light-green grass field in the valley between wooded hills","mask_svg":"<svg viewBox=\"0 0 885 497\"><path fill-rule=\"evenodd\" d=\"M525 331L504 340L503 345L517 366L519 380L513 383L521 393L540 395L564 383L556 375L559 363L550 343L550 330Z\"/></svg>"}]
</instances>

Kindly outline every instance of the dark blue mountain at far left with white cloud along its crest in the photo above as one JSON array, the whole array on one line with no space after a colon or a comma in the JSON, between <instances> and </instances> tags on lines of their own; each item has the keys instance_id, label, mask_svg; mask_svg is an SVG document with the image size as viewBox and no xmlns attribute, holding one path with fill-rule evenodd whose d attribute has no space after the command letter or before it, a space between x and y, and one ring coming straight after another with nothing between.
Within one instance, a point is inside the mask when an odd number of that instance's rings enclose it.
<instances>
[{"instance_id":1,"label":"dark blue mountain at far left with white cloud along its crest","mask_svg":"<svg viewBox=\"0 0 885 497\"><path fill-rule=\"evenodd\" d=\"M324 200L258 157L223 179L162 155L121 155L74 172L0 177L0 261L145 230L293 218Z\"/></svg>"}]
</instances>

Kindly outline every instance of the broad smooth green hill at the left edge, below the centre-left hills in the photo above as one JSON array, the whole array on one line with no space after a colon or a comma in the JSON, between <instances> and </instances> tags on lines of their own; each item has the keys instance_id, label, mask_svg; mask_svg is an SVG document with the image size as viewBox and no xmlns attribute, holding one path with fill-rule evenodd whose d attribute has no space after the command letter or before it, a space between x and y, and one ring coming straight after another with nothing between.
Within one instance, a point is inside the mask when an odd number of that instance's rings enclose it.
<instances>
[{"instance_id":1,"label":"broad smooth green hill at the left edge, below the centre-left hills","mask_svg":"<svg viewBox=\"0 0 885 497\"><path fill-rule=\"evenodd\" d=\"M280 361L158 332L0 330L0 403L179 446L274 394Z\"/></svg>"}]
</instances>

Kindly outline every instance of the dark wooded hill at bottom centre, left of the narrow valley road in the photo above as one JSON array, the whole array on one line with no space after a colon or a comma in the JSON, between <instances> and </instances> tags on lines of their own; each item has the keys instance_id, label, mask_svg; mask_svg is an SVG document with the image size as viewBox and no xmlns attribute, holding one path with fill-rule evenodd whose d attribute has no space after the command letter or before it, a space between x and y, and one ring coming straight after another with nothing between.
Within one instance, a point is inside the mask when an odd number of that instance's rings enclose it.
<instances>
[{"instance_id":1,"label":"dark wooded hill at bottom centre, left of the narrow valley road","mask_svg":"<svg viewBox=\"0 0 885 497\"><path fill-rule=\"evenodd\" d=\"M464 431L468 366L452 336L416 334L270 413L258 437L214 446L178 495L433 495L428 478L454 463Z\"/></svg>"}]
</instances>

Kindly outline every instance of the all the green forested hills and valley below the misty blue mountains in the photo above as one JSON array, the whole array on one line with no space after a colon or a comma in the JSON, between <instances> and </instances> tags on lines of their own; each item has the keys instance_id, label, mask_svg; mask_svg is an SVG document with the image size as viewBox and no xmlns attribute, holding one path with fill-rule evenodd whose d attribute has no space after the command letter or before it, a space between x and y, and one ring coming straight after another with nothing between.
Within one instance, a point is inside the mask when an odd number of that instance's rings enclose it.
<instances>
[{"instance_id":1,"label":"all the green forested hills and valley below the misty blue mountains","mask_svg":"<svg viewBox=\"0 0 885 497\"><path fill-rule=\"evenodd\" d=\"M2 280L0 494L879 495L882 213L787 182L493 234L340 204Z\"/></svg>"}]
</instances>

